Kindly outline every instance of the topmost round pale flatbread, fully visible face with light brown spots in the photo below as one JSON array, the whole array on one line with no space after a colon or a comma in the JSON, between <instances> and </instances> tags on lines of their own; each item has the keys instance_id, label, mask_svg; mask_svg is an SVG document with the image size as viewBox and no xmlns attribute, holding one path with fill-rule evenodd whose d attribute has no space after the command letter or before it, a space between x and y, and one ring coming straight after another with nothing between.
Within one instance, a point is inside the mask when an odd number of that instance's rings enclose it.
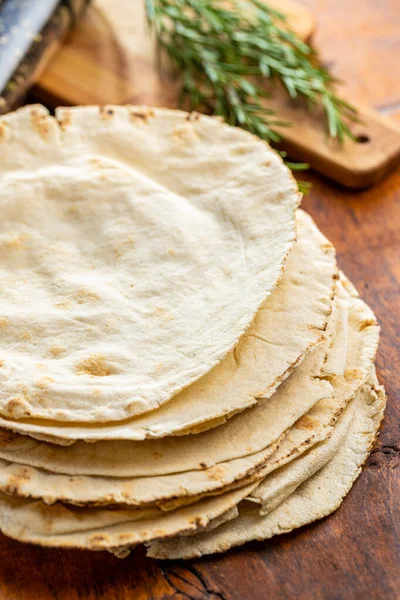
<instances>
[{"instance_id":1,"label":"topmost round pale flatbread, fully visible face with light brown spots","mask_svg":"<svg viewBox=\"0 0 400 600\"><path fill-rule=\"evenodd\" d=\"M115 422L236 345L281 276L299 195L265 142L211 117L57 116L0 119L0 414Z\"/></svg>"}]
</instances>

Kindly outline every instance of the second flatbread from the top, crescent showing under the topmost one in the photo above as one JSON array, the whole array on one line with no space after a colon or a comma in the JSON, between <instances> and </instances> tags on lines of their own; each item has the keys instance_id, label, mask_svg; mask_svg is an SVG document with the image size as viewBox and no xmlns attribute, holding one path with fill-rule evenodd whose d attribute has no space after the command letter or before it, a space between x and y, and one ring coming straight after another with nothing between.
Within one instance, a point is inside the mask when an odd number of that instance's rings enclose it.
<instances>
[{"instance_id":1,"label":"second flatbread from the top, crescent showing under the topmost one","mask_svg":"<svg viewBox=\"0 0 400 600\"><path fill-rule=\"evenodd\" d=\"M334 249L303 211L298 241L286 270L247 333L222 362L158 410L113 425L59 425L47 421L8 421L0 425L36 437L62 440L165 437L220 425L234 413L270 397L324 337L331 312L336 263ZM193 429L194 428L194 429Z\"/></svg>"}]
</instances>

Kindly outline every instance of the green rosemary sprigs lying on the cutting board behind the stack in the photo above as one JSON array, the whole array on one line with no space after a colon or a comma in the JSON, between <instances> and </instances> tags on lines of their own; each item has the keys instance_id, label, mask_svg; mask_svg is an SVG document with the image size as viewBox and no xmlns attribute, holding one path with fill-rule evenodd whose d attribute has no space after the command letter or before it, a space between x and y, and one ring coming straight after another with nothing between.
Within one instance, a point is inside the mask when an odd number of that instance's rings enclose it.
<instances>
[{"instance_id":1,"label":"green rosemary sprigs lying on the cutting board behind the stack","mask_svg":"<svg viewBox=\"0 0 400 600\"><path fill-rule=\"evenodd\" d=\"M316 52L289 31L285 17L260 0L146 0L160 49L182 73L190 109L221 115L268 142L279 142L279 117L265 107L266 80L292 98L322 107L329 135L353 138L355 110L334 91Z\"/></svg>"}]
</instances>

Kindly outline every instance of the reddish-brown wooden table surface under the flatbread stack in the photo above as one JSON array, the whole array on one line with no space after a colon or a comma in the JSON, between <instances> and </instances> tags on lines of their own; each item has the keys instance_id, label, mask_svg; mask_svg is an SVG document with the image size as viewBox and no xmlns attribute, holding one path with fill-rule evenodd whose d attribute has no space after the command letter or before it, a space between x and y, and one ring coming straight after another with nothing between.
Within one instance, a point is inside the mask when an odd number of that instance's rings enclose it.
<instances>
[{"instance_id":1,"label":"reddish-brown wooden table surface under the flatbread stack","mask_svg":"<svg viewBox=\"0 0 400 600\"><path fill-rule=\"evenodd\" d=\"M385 113L400 111L398 0L305 4L317 14L324 59L353 96ZM292 534L190 562L151 561L141 549L121 561L0 537L0 600L400 598L400 172L361 193L308 177L313 189L303 206L336 245L340 266L382 325L385 422L342 507Z\"/></svg>"}]
</instances>

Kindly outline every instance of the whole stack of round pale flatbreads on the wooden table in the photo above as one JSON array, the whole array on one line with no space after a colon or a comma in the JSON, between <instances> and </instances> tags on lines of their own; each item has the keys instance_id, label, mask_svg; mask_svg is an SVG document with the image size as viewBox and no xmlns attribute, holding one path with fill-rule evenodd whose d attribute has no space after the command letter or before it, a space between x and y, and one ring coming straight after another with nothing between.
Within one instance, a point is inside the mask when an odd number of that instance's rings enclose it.
<instances>
[{"instance_id":1,"label":"whole stack of round pale flatbreads on the wooden table","mask_svg":"<svg viewBox=\"0 0 400 600\"><path fill-rule=\"evenodd\" d=\"M0 529L187 558L334 511L379 328L260 139L143 107L0 120Z\"/></svg>"}]
</instances>

